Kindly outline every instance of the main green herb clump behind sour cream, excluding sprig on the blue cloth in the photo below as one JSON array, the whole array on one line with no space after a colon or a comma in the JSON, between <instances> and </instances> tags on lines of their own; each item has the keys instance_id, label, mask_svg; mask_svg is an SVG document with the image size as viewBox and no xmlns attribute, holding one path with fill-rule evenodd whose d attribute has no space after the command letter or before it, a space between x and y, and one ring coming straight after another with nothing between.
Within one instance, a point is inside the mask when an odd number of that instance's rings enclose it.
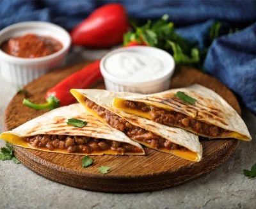
<instances>
[{"instance_id":1,"label":"main green herb clump behind sour cream, excluding sprig on the blue cloth","mask_svg":"<svg viewBox=\"0 0 256 209\"><path fill-rule=\"evenodd\" d=\"M200 61L198 49L175 33L173 22L169 22L168 18L168 15L164 15L154 23L148 20L147 24L141 27L133 24L134 32L125 33L124 45L132 41L145 43L170 52L176 63L198 63Z\"/></svg>"}]
</instances>

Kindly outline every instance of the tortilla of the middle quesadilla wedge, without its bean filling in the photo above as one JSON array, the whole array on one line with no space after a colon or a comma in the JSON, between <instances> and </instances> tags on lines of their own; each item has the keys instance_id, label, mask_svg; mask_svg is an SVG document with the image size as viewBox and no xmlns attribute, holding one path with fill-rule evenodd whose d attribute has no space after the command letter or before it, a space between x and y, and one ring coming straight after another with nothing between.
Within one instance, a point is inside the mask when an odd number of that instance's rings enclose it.
<instances>
[{"instance_id":1,"label":"tortilla of the middle quesadilla wedge, without its bean filling","mask_svg":"<svg viewBox=\"0 0 256 209\"><path fill-rule=\"evenodd\" d=\"M198 136L195 134L191 134L186 130L182 130L180 128L174 127L167 127L165 125L158 124L154 121L148 120L146 118L141 118L138 116L134 116L132 114L125 113L124 111L120 111L119 109L113 107L112 100L115 97L124 97L129 95L137 95L134 93L127 93L127 92L112 92L106 91L101 89L71 89L70 91L74 97L87 109L90 111L94 116L99 118L100 120L104 121L96 111L88 108L86 106L85 99L88 98L95 102L95 104L104 107L108 111L114 112L116 115L124 118L125 120L129 121L132 125L140 128L144 128L145 130L152 132L156 135L167 139L173 144L179 144L187 148L188 150L168 150L166 148L156 149L154 147L148 146L147 143L143 143L141 141L136 141L141 143L145 146L153 148L158 151L163 151L166 153L170 153L177 157L181 157L183 159L191 160L193 162L199 162L202 159L202 145L199 143ZM106 123L106 121L105 121Z\"/></svg>"}]
</instances>

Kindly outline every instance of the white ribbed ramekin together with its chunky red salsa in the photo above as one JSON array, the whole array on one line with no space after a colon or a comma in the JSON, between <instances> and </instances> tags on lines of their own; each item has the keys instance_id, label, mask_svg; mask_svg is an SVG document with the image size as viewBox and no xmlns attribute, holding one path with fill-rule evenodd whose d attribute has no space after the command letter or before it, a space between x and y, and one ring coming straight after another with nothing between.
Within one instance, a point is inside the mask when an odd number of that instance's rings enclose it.
<instances>
[{"instance_id":1,"label":"white ribbed ramekin together with its chunky red salsa","mask_svg":"<svg viewBox=\"0 0 256 209\"><path fill-rule=\"evenodd\" d=\"M21 22L0 31L0 70L5 79L24 86L65 65L71 39L49 22Z\"/></svg>"}]
</instances>

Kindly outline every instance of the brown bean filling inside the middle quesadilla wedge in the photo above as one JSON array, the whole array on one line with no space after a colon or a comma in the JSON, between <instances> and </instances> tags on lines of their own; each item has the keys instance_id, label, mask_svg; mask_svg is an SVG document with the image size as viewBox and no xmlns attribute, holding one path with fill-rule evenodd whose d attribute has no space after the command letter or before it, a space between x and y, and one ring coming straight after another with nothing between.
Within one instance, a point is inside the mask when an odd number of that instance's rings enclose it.
<instances>
[{"instance_id":1,"label":"brown bean filling inside the middle quesadilla wedge","mask_svg":"<svg viewBox=\"0 0 256 209\"><path fill-rule=\"evenodd\" d=\"M135 141L141 141L147 143L153 148L166 148L168 150L188 150L184 146L178 144L173 144L167 139L162 138L152 132L149 132L143 128L136 127L129 123L127 120L121 118L113 112L108 111L104 107L95 104L92 100L88 98L85 99L85 104L87 107L97 112L97 114L103 118L111 127L116 128L128 137Z\"/></svg>"}]
</instances>

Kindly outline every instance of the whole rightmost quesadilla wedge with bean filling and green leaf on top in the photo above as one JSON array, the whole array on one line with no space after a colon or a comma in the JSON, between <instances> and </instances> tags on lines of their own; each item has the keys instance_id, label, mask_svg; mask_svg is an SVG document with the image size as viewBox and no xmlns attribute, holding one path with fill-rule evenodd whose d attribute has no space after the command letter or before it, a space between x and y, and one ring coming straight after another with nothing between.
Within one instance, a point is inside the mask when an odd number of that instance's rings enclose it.
<instances>
[{"instance_id":1,"label":"whole rightmost quesadilla wedge with bean filling and green leaf on top","mask_svg":"<svg viewBox=\"0 0 256 209\"><path fill-rule=\"evenodd\" d=\"M199 84L152 95L116 97L113 106L204 137L252 139L239 114L220 95Z\"/></svg>"}]
</instances>

